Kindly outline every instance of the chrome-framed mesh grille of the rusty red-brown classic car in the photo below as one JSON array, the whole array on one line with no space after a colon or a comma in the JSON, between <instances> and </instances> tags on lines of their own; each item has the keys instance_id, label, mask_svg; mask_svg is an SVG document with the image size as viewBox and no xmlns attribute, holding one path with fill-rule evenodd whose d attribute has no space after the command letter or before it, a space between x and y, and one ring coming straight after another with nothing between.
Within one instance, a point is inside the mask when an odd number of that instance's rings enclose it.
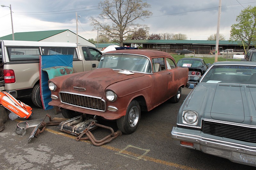
<instances>
[{"instance_id":1,"label":"chrome-framed mesh grille of the rusty red-brown classic car","mask_svg":"<svg viewBox=\"0 0 256 170\"><path fill-rule=\"evenodd\" d=\"M60 101L69 105L92 110L105 111L106 109L105 101L93 96L60 92Z\"/></svg>"}]
</instances>

